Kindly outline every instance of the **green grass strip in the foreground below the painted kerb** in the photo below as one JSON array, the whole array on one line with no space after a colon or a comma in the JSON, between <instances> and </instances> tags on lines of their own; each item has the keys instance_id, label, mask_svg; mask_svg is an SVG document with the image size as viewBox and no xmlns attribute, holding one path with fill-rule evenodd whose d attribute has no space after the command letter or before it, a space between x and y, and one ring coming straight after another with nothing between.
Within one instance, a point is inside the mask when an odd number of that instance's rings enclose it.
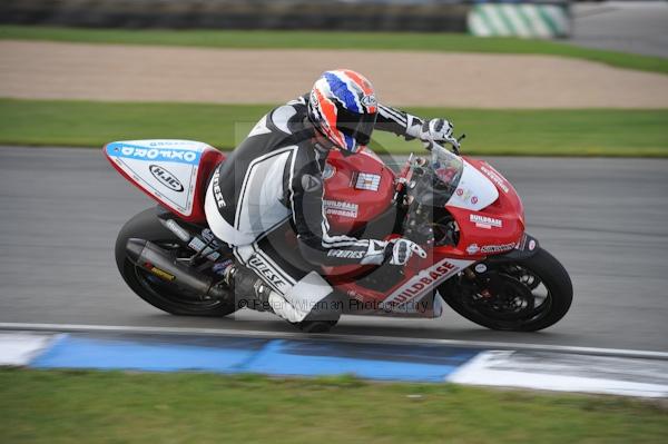
<instances>
[{"instance_id":1,"label":"green grass strip in the foreground below the painted kerb","mask_svg":"<svg viewBox=\"0 0 668 444\"><path fill-rule=\"evenodd\" d=\"M0 371L4 443L659 443L666 411L617 397L351 377Z\"/></svg>"}]
</instances>

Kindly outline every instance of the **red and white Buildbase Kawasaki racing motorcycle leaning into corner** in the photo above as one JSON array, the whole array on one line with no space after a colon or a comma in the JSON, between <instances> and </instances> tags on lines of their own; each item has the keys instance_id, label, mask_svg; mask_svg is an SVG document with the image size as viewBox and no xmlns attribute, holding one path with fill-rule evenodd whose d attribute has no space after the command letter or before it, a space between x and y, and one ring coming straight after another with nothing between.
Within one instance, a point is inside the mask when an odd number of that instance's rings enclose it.
<instances>
[{"instance_id":1,"label":"red and white Buildbase Kawasaki racing motorcycle leaning into corner","mask_svg":"<svg viewBox=\"0 0 668 444\"><path fill-rule=\"evenodd\" d=\"M563 266L524 233L512 185L490 164L432 144L391 168L373 151L332 151L323 207L335 234L409 238L425 248L403 267L346 265L320 274L337 292L341 314L439 317L449 305L481 326L533 332L561 319L572 300ZM204 197L223 152L190 140L116 141L114 168L158 206L128 220L116 263L144 300L174 315L227 316L242 308L225 285L229 246L207 226ZM289 225L275 236L294 254ZM292 251L292 253L291 253Z\"/></svg>"}]
</instances>

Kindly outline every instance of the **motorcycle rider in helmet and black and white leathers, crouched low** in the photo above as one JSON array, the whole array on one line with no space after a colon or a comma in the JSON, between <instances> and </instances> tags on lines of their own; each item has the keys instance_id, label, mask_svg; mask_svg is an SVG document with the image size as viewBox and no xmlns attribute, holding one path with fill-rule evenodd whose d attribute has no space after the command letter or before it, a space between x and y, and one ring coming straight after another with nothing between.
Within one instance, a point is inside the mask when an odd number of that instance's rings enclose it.
<instances>
[{"instance_id":1,"label":"motorcycle rider in helmet and black and white leathers, crouched low","mask_svg":"<svg viewBox=\"0 0 668 444\"><path fill-rule=\"evenodd\" d=\"M311 93L264 116L216 168L205 211L213 233L234 248L236 264L227 267L225 276L237 295L252 294L254 303L261 302L261 307L302 329L323 332L338 314L327 309L335 296L314 265L404 265L413 254L426 256L409 239L330 234L323 208L327 154L333 149L344 155L360 152L374 129L406 140L456 141L448 120L423 121L383 106L364 76L340 69L325 71ZM278 246L281 239L272 237L284 234L278 228L285 224L296 234L306 267Z\"/></svg>"}]
</instances>

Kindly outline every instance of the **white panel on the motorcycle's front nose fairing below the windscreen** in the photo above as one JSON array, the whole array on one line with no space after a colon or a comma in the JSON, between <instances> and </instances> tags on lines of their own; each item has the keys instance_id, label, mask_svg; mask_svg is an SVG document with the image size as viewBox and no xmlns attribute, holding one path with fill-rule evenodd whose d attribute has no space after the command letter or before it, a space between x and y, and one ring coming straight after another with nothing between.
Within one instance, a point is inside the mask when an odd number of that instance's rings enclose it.
<instances>
[{"instance_id":1,"label":"white panel on the motorcycle's front nose fairing below the windscreen","mask_svg":"<svg viewBox=\"0 0 668 444\"><path fill-rule=\"evenodd\" d=\"M482 172L463 160L464 170L446 206L479 211L499 198L499 190Z\"/></svg>"}]
</instances>

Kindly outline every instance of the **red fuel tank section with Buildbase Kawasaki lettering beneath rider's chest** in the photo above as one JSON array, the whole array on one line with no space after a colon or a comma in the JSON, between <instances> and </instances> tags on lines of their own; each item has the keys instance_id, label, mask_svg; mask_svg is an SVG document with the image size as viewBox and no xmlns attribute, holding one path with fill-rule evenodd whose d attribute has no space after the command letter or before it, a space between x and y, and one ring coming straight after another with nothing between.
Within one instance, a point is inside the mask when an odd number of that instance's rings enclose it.
<instances>
[{"instance_id":1,"label":"red fuel tank section with Buildbase Kawasaki lettering beneath rider's chest","mask_svg":"<svg viewBox=\"0 0 668 444\"><path fill-rule=\"evenodd\" d=\"M351 233L391 205L394 172L369 148L344 157L332 151L323 174L325 214L333 233Z\"/></svg>"}]
</instances>

